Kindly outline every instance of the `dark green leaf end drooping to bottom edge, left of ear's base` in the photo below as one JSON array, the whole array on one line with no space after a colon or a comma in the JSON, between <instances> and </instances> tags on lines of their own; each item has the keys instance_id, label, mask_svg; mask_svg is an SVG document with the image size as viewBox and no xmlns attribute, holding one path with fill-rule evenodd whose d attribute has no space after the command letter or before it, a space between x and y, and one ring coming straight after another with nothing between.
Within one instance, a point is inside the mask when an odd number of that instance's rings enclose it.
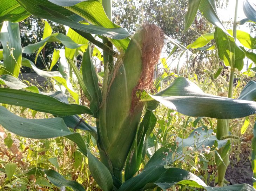
<instances>
[{"instance_id":1,"label":"dark green leaf end drooping to bottom edge, left of ear's base","mask_svg":"<svg viewBox=\"0 0 256 191\"><path fill-rule=\"evenodd\" d=\"M90 172L103 191L113 190L113 179L107 167L87 150Z\"/></svg>"}]
</instances>

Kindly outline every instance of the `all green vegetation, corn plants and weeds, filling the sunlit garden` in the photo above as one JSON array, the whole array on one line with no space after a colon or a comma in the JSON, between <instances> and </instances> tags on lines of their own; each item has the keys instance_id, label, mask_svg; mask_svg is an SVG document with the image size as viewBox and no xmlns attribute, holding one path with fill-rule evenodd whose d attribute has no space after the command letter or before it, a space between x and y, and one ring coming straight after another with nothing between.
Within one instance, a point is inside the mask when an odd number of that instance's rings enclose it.
<instances>
[{"instance_id":1,"label":"all green vegetation, corn plants and weeds, filling the sunlit garden","mask_svg":"<svg viewBox=\"0 0 256 191\"><path fill-rule=\"evenodd\" d=\"M255 138L245 137L256 130L256 38L236 29L256 22L255 6L245 0L247 19L239 22L236 6L233 30L222 24L215 1L189 0L187 7L180 40L198 10L214 32L190 35L194 42L184 46L147 22L131 35L112 22L110 0L2 2L0 188L255 190L224 178L230 153L238 159L242 145L251 142L256 186ZM42 19L35 19L44 24L42 39L22 47L19 23L31 15ZM67 34L52 34L48 21L68 26ZM171 45L164 58L166 42ZM47 62L49 43L54 49ZM207 51L225 69L204 63L195 73L195 54ZM187 61L179 66L183 54ZM173 71L170 57L179 58ZM246 57L252 62L242 73ZM25 67L46 78L47 88L24 80Z\"/></svg>"}]
</instances>

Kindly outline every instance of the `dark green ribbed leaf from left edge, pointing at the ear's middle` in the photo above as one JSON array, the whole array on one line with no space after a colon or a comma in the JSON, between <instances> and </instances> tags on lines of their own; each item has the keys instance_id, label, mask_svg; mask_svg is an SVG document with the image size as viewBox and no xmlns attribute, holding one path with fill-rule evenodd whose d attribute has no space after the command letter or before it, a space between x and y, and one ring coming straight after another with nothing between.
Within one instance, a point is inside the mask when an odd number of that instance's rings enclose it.
<instances>
[{"instance_id":1,"label":"dark green ribbed leaf from left edge, pointing at the ear's middle","mask_svg":"<svg viewBox=\"0 0 256 191\"><path fill-rule=\"evenodd\" d=\"M93 114L92 111L82 105L67 104L47 95L9 88L0 88L0 103L27 107L57 116Z\"/></svg>"}]
</instances>

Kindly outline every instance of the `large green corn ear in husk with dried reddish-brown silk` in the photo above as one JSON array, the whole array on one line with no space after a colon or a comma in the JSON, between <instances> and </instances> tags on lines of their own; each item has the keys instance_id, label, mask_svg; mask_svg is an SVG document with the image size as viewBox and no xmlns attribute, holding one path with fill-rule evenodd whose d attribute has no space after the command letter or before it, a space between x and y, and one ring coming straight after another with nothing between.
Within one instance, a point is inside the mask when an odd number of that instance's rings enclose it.
<instances>
[{"instance_id":1,"label":"large green corn ear in husk with dried reddish-brown silk","mask_svg":"<svg viewBox=\"0 0 256 191\"><path fill-rule=\"evenodd\" d=\"M154 35L156 38L152 38ZM156 43L159 39L160 43ZM143 110L136 90L149 87L162 49L162 46L156 47L159 44L163 44L162 31L156 25L142 25L131 38L123 58L115 63L109 75L107 95L102 95L102 107L106 104L106 110L100 112L99 131L104 133L99 135L112 163L114 175L119 179ZM155 50L158 50L155 55L144 55ZM103 88L106 89L104 85Z\"/></svg>"}]
</instances>

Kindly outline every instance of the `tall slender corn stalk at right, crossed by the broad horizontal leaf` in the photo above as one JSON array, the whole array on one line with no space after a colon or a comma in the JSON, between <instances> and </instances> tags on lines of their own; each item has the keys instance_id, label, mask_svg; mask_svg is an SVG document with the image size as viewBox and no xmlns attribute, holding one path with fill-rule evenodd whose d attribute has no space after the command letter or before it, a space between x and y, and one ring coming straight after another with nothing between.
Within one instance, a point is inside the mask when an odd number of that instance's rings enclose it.
<instances>
[{"instance_id":1,"label":"tall slender corn stalk at right, crossed by the broad horizontal leaf","mask_svg":"<svg viewBox=\"0 0 256 191\"><path fill-rule=\"evenodd\" d=\"M235 8L235 18L234 18L234 24L233 24L233 37L236 41L236 17L237 17L237 8L238 8L238 0L236 0L236 8ZM230 69L230 78L229 78L229 88L228 88L228 97L232 98L233 96L233 85L234 85L234 74L235 74L235 68L231 67ZM229 119L218 119L217 120L217 139L221 139L225 135L228 135L229 133ZM223 148L220 148L218 150L218 153L221 155L223 152ZM215 162L219 164L220 159L218 159L218 156L215 156ZM218 169L218 185L223 186L224 183L224 177L225 173L229 164L229 152L225 157L222 159L224 163L220 163L220 165L217 167Z\"/></svg>"}]
</instances>

